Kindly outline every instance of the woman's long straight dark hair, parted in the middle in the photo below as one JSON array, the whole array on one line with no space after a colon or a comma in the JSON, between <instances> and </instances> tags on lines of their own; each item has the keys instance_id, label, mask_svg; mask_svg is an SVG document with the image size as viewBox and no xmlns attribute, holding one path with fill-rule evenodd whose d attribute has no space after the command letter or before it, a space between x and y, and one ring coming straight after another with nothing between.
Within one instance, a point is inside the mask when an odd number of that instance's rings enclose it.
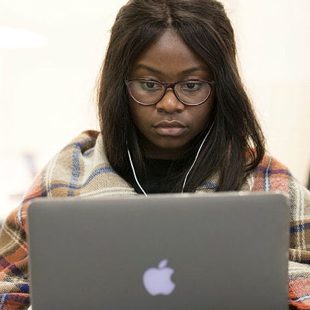
<instances>
[{"instance_id":1,"label":"woman's long straight dark hair, parted in the middle","mask_svg":"<svg viewBox=\"0 0 310 310\"><path fill-rule=\"evenodd\" d=\"M130 166L144 174L139 131L130 116L124 81L135 60L154 40L174 29L184 43L213 71L213 111L205 130L187 145L184 167L174 176L174 191L182 190L185 174L211 123L213 128L195 163L184 191L195 191L207 178L219 176L217 191L240 189L249 171L265 153L263 133L237 69L233 27L224 6L215 0L130 0L111 29L110 43L98 86L98 111L106 155L124 175Z\"/></svg>"}]
</instances>

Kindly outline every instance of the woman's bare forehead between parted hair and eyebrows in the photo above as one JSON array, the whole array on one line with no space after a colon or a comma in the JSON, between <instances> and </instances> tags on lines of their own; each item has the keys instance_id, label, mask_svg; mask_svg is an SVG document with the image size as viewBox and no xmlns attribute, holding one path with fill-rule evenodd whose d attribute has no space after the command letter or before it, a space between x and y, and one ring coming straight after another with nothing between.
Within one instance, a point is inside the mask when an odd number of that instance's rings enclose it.
<instances>
[{"instance_id":1,"label":"woman's bare forehead between parted hair and eyebrows","mask_svg":"<svg viewBox=\"0 0 310 310\"><path fill-rule=\"evenodd\" d=\"M134 62L132 72L145 71L146 67L163 75L178 75L193 68L211 73L208 64L199 58L173 29L167 29L141 53Z\"/></svg>"}]
</instances>

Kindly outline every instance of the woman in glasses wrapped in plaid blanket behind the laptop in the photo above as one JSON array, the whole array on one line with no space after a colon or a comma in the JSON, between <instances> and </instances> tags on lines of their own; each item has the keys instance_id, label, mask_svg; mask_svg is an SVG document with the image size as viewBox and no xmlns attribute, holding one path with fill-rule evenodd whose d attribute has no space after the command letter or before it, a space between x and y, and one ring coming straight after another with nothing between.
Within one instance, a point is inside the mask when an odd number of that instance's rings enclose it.
<instances>
[{"instance_id":1,"label":"woman in glasses wrapped in plaid blanket behind the laptop","mask_svg":"<svg viewBox=\"0 0 310 310\"><path fill-rule=\"evenodd\" d=\"M3 226L3 309L29 305L32 199L237 190L288 193L289 298L307 307L310 193L265 152L223 5L129 1L112 27L98 90L101 132L83 132L52 158Z\"/></svg>"}]
</instances>

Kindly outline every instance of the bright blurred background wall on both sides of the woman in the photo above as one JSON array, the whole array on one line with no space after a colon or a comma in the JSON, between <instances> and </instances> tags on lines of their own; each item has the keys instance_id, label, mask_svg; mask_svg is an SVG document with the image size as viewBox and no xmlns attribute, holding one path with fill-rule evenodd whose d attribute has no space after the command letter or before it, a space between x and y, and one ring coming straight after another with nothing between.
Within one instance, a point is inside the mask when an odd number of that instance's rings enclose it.
<instances>
[{"instance_id":1,"label":"bright blurred background wall on both sides of the woman","mask_svg":"<svg viewBox=\"0 0 310 310\"><path fill-rule=\"evenodd\" d=\"M124 3L0 1L0 219L53 154L83 130L98 128L95 82ZM268 149L306 184L310 1L223 3Z\"/></svg>"}]
</instances>

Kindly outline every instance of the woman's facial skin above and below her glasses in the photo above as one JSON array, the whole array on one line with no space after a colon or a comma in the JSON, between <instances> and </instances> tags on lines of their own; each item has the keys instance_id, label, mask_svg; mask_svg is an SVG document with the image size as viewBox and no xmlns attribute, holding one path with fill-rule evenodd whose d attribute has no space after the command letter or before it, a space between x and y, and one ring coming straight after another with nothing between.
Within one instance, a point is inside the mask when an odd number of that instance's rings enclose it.
<instances>
[{"instance_id":1,"label":"woman's facial skin above and below her glasses","mask_svg":"<svg viewBox=\"0 0 310 310\"><path fill-rule=\"evenodd\" d=\"M167 29L134 63L130 80L141 78L174 83L186 79L213 80L213 73L174 30ZM182 104L171 88L152 106L138 104L130 97L132 119L141 132L140 143L146 156L182 157L185 145L206 127L213 100L214 89L199 106Z\"/></svg>"}]
</instances>

